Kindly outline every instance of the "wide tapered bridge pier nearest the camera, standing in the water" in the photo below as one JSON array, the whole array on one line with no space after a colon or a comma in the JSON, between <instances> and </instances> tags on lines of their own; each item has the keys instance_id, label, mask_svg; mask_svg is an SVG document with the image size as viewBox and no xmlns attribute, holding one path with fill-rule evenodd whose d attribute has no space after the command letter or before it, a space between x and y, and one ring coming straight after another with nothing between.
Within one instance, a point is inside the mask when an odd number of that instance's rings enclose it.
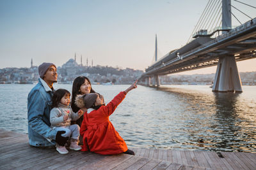
<instances>
[{"instance_id":1,"label":"wide tapered bridge pier nearest the camera, standing in the water","mask_svg":"<svg viewBox=\"0 0 256 170\"><path fill-rule=\"evenodd\" d=\"M234 56L219 58L212 92L243 92Z\"/></svg>"}]
</instances>

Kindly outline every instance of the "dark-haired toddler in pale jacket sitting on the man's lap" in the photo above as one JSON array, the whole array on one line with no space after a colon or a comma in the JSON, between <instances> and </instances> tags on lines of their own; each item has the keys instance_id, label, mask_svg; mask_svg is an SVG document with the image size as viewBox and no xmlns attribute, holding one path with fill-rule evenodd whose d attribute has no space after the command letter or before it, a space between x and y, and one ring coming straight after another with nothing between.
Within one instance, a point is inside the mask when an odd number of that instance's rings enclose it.
<instances>
[{"instance_id":1,"label":"dark-haired toddler in pale jacket sitting on the man's lap","mask_svg":"<svg viewBox=\"0 0 256 170\"><path fill-rule=\"evenodd\" d=\"M83 115L83 110L74 113L69 107L70 103L70 92L65 89L58 89L52 96L52 110L50 113L50 122L52 128L57 128L58 131L65 131L61 134L63 137L70 139L70 149L81 150L81 146L78 144L79 139L79 125L70 125L71 120L77 120ZM56 144L56 150L61 154L68 153L65 146Z\"/></svg>"}]
</instances>

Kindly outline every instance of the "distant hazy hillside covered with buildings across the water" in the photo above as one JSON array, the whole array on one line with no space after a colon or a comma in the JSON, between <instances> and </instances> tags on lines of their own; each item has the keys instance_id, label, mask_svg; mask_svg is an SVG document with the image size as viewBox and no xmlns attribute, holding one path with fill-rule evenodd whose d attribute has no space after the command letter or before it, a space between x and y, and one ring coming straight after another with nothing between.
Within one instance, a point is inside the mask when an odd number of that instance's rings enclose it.
<instances>
[{"instance_id":1,"label":"distant hazy hillside covered with buildings across the water","mask_svg":"<svg viewBox=\"0 0 256 170\"><path fill-rule=\"evenodd\" d=\"M143 73L141 70L109 66L83 66L77 64L76 58L68 60L61 67L57 68L58 83L72 83L77 76L86 76L92 83L127 84L132 83ZM239 73L243 85L256 85L256 72ZM193 74L179 75L170 74L160 76L161 84L180 85L211 85L215 74ZM0 69L0 83L35 83L38 80L38 66L31 67L8 67Z\"/></svg>"}]
</instances>

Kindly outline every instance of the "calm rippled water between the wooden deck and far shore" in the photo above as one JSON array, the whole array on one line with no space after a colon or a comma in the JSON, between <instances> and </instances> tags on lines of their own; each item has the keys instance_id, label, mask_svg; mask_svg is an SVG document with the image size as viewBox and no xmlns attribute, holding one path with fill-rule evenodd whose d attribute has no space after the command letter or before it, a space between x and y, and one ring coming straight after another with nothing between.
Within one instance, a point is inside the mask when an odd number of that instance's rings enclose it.
<instances>
[{"instance_id":1,"label":"calm rippled water between the wooden deck and far shore","mask_svg":"<svg viewBox=\"0 0 256 170\"><path fill-rule=\"evenodd\" d=\"M27 97L33 86L0 85L0 129L28 133ZM106 103L127 87L93 85ZM211 92L207 85L138 85L110 120L130 147L256 153L255 86L233 94Z\"/></svg>"}]
</instances>

